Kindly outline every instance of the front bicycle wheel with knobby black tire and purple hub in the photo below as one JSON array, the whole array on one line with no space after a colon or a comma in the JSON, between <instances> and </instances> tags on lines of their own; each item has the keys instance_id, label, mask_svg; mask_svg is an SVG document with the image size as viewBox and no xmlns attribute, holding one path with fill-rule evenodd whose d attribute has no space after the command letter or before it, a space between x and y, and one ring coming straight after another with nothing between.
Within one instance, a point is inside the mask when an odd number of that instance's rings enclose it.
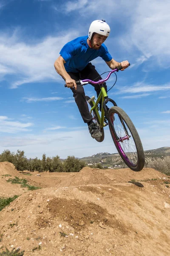
<instances>
[{"instance_id":1,"label":"front bicycle wheel with knobby black tire and purple hub","mask_svg":"<svg viewBox=\"0 0 170 256\"><path fill-rule=\"evenodd\" d=\"M117 151L122 157L122 160L131 170L135 172L141 171L144 167L144 150L143 150L143 146L142 146L142 142L140 140L139 134L136 131L136 128L133 125L133 122L131 121L129 116L127 116L127 113L125 113L125 111L123 111L122 108L119 108L119 107L111 107L108 111L108 115L109 115L108 124L111 132L111 137L113 139L113 142L116 146ZM117 131L117 129L118 130L120 129L120 134ZM124 137L122 137L122 135L124 135ZM134 145L132 143L132 139L133 139ZM125 144L127 142L128 144L132 143L132 145ZM133 148L136 148L136 149L133 149ZM129 150L132 150L132 151L125 152L126 149L128 151Z\"/></svg>"}]
</instances>

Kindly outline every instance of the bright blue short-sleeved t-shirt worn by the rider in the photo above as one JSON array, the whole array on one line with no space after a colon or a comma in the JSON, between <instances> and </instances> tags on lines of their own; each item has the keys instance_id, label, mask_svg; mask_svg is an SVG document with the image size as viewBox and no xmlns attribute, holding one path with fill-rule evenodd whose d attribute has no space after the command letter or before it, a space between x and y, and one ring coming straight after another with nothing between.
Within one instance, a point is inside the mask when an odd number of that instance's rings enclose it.
<instances>
[{"instance_id":1,"label":"bright blue short-sleeved t-shirt worn by the rider","mask_svg":"<svg viewBox=\"0 0 170 256\"><path fill-rule=\"evenodd\" d=\"M77 73L82 71L90 61L101 57L104 61L111 61L112 57L105 44L98 50L92 49L87 43L88 36L78 37L62 47L59 54L65 60L65 70Z\"/></svg>"}]
</instances>

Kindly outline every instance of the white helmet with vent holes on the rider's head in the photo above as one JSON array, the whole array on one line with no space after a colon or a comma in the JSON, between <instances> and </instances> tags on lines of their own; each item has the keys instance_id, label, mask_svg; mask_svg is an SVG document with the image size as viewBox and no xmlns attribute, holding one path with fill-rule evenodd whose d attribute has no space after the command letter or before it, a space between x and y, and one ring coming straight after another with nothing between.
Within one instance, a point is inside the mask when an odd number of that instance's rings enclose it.
<instances>
[{"instance_id":1,"label":"white helmet with vent holes on the rider's head","mask_svg":"<svg viewBox=\"0 0 170 256\"><path fill-rule=\"evenodd\" d=\"M105 20L94 20L88 31L88 39L91 40L93 33L98 33L100 35L109 36L111 29L108 23Z\"/></svg>"}]
</instances>

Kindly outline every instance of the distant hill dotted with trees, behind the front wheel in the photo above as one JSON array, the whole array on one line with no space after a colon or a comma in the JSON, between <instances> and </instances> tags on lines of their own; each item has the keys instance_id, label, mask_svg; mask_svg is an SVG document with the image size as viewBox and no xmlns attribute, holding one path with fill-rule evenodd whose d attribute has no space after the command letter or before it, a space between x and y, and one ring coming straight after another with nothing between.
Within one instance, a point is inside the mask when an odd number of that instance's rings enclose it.
<instances>
[{"instance_id":1,"label":"distant hill dotted with trees, behind the front wheel","mask_svg":"<svg viewBox=\"0 0 170 256\"><path fill-rule=\"evenodd\" d=\"M170 147L162 147L144 151L145 163L153 162L154 160L162 160L164 157L170 157ZM103 166L115 166L119 165L122 168L126 167L119 153L110 154L108 152L94 154L89 157L82 157L79 160L83 160L88 164L102 163Z\"/></svg>"}]
</instances>

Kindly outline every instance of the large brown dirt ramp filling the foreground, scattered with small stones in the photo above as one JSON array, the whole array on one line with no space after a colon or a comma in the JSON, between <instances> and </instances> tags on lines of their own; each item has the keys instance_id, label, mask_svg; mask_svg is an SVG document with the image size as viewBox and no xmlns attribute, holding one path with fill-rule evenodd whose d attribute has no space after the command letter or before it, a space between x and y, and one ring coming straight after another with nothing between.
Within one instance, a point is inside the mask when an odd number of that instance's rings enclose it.
<instances>
[{"instance_id":1,"label":"large brown dirt ramp filling the foreground, scattered with small stones","mask_svg":"<svg viewBox=\"0 0 170 256\"><path fill-rule=\"evenodd\" d=\"M27 192L0 212L0 245L27 256L169 256L169 195L143 185Z\"/></svg>"}]
</instances>

